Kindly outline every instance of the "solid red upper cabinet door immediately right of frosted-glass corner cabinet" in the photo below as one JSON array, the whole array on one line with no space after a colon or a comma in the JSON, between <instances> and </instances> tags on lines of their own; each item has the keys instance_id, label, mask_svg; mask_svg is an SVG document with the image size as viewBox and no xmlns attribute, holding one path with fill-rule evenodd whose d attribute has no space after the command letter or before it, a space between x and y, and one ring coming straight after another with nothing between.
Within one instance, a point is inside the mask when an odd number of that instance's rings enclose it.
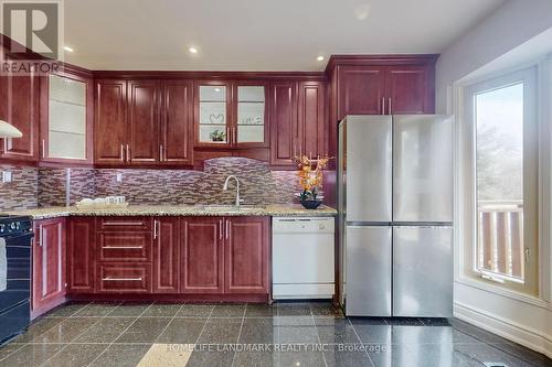
<instances>
[{"instance_id":1,"label":"solid red upper cabinet door immediately right of frosted-glass corner cabinet","mask_svg":"<svg viewBox=\"0 0 552 367\"><path fill-rule=\"evenodd\" d=\"M125 80L96 82L96 114L94 126L96 164L121 165L126 161L127 122L126 122Z\"/></svg>"}]
</instances>

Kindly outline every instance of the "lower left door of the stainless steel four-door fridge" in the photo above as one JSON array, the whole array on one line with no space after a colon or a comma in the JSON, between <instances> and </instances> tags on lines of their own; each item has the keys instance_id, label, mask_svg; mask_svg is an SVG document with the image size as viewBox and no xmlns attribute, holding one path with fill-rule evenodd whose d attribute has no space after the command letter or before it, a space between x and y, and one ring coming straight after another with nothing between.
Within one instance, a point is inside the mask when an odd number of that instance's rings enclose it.
<instances>
[{"instance_id":1,"label":"lower left door of the stainless steel four-door fridge","mask_svg":"<svg viewBox=\"0 0 552 367\"><path fill-rule=\"evenodd\" d=\"M346 314L391 316L391 227L346 230Z\"/></svg>"}]
</instances>

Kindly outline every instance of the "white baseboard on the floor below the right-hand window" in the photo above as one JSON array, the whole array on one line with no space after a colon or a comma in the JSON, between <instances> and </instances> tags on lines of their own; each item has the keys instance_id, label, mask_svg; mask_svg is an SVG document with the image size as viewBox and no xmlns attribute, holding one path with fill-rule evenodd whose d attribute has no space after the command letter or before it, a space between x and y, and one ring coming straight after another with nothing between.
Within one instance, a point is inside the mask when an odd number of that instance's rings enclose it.
<instances>
[{"instance_id":1,"label":"white baseboard on the floor below the right-hand window","mask_svg":"<svg viewBox=\"0 0 552 367\"><path fill-rule=\"evenodd\" d=\"M454 304L454 315L469 324L552 358L552 339L534 330L459 302Z\"/></svg>"}]
</instances>

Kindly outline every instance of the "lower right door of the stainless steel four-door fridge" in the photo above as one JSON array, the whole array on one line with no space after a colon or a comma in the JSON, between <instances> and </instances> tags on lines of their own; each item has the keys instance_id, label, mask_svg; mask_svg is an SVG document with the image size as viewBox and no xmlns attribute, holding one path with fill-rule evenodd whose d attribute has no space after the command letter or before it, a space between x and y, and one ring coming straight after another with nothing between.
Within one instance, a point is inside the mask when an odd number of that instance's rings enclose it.
<instances>
[{"instance_id":1,"label":"lower right door of the stainless steel four-door fridge","mask_svg":"<svg viewBox=\"0 0 552 367\"><path fill-rule=\"evenodd\" d=\"M453 316L453 228L393 228L393 316Z\"/></svg>"}]
</instances>

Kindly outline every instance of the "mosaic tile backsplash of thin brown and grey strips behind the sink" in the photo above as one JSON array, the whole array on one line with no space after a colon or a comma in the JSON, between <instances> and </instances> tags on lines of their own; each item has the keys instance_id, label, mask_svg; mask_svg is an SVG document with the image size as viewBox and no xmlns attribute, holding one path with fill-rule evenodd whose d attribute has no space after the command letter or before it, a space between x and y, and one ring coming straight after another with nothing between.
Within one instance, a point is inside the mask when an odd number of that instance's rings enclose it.
<instances>
[{"instance_id":1,"label":"mosaic tile backsplash of thin brown and grey strips behind the sink","mask_svg":"<svg viewBox=\"0 0 552 367\"><path fill-rule=\"evenodd\" d=\"M7 168L19 180L0 184L0 209L64 206L67 174L70 203L83 197L124 195L131 204L233 204L235 183L222 190L230 174L240 179L244 204L286 204L300 191L295 171L270 171L265 162L246 158L205 161L203 171L125 169ZM121 182L117 182L117 174ZM10 198L11 197L11 198Z\"/></svg>"}]
</instances>

